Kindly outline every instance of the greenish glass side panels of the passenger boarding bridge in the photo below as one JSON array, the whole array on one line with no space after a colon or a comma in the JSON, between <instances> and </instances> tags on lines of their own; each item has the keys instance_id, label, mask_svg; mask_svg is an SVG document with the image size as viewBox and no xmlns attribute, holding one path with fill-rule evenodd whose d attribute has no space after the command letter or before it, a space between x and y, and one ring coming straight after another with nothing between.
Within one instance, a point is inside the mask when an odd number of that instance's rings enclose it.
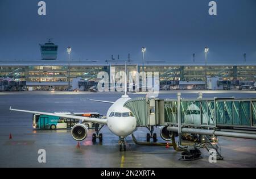
<instances>
[{"instance_id":1,"label":"greenish glass side panels of the passenger boarding bridge","mask_svg":"<svg viewBox=\"0 0 256 179\"><path fill-rule=\"evenodd\" d=\"M185 126L256 126L256 101L184 99L180 107ZM177 124L177 101L164 101L164 122Z\"/></svg>"}]
</instances>

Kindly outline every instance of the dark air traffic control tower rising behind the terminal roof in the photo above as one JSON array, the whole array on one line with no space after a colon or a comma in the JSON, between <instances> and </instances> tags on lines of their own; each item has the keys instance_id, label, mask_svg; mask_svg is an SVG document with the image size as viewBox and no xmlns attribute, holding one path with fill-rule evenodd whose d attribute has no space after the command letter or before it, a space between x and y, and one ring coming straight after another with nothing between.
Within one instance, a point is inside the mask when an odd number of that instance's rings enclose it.
<instances>
[{"instance_id":1,"label":"dark air traffic control tower rising behind the terminal roof","mask_svg":"<svg viewBox=\"0 0 256 179\"><path fill-rule=\"evenodd\" d=\"M41 49L42 60L56 60L57 59L57 49L58 45L55 45L48 39L45 44L39 44Z\"/></svg>"}]
</instances>

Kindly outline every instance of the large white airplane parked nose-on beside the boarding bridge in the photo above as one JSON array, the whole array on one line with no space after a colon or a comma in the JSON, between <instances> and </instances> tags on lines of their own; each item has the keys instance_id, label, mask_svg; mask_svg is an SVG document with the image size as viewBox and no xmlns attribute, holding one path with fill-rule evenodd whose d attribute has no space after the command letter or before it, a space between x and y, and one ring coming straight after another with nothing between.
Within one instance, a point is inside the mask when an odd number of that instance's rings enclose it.
<instances>
[{"instance_id":1,"label":"large white airplane parked nose-on beside the boarding bridge","mask_svg":"<svg viewBox=\"0 0 256 179\"><path fill-rule=\"evenodd\" d=\"M125 72L127 72L127 66L125 63ZM105 118L88 118L86 116L74 116L68 114L55 114L55 113L46 113L42 111L30 111L30 110L20 110L20 109L12 109L10 106L11 111L20 111L24 113L33 113L33 114L41 114L41 115L51 115L51 116L59 116L63 118L71 118L71 119L80 119L80 123L75 124L72 127L71 134L73 139L77 141L84 140L88 134L88 128L82 124L82 122L94 122L97 124L106 125L109 127L109 130L114 134L119 136L119 151L126 151L125 140L126 137L132 134L137 128L137 120L135 119L134 115L131 113L129 109L123 107L126 101L131 99L129 95L127 95L127 78L125 73L125 94L121 96L121 98L117 99L117 101L102 101L102 100L94 100L90 99L91 101L96 102L104 102L110 103L110 106ZM101 128L100 128L101 129ZM96 141L96 138L102 140L102 134L98 134L100 131L98 127L96 127L96 134L93 134L93 141Z\"/></svg>"}]
</instances>

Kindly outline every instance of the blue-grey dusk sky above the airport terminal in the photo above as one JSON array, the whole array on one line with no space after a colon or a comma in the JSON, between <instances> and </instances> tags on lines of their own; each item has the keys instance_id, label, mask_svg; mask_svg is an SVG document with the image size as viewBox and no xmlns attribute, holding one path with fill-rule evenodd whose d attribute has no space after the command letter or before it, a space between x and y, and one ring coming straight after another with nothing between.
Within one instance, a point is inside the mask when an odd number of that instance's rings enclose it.
<instances>
[{"instance_id":1,"label":"blue-grey dusk sky above the airport terminal","mask_svg":"<svg viewBox=\"0 0 256 179\"><path fill-rule=\"evenodd\" d=\"M41 59L39 43L53 38L58 60L126 60L168 63L256 63L256 1L218 0L46 0L38 15L37 0L0 0L0 60Z\"/></svg>"}]
</instances>

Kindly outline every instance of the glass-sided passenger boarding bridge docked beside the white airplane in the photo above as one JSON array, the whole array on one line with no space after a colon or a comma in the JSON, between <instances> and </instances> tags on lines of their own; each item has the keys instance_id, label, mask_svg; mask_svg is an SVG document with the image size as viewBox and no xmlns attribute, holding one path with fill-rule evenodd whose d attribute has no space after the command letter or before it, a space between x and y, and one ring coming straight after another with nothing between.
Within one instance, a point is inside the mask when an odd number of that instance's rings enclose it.
<instances>
[{"instance_id":1,"label":"glass-sided passenger boarding bridge docked beside the white airplane","mask_svg":"<svg viewBox=\"0 0 256 179\"><path fill-rule=\"evenodd\" d=\"M141 97L124 106L137 118L137 126L163 126L161 137L177 133L179 143L181 133L256 139L256 98L202 98L200 94L197 99L183 99L177 93L177 99Z\"/></svg>"}]
</instances>

